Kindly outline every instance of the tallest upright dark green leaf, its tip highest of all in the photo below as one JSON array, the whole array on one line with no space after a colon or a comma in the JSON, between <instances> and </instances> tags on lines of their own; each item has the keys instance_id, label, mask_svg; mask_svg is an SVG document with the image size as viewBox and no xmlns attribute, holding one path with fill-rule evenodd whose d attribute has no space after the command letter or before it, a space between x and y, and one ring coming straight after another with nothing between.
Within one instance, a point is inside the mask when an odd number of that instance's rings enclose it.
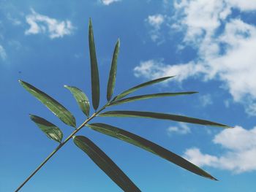
<instances>
[{"instance_id":1,"label":"tallest upright dark green leaf, its tip highest of all","mask_svg":"<svg viewBox=\"0 0 256 192\"><path fill-rule=\"evenodd\" d=\"M94 32L92 30L91 18L89 20L89 49L91 58L91 97L94 110L99 107L99 71L94 44Z\"/></svg>"}]
</instances>

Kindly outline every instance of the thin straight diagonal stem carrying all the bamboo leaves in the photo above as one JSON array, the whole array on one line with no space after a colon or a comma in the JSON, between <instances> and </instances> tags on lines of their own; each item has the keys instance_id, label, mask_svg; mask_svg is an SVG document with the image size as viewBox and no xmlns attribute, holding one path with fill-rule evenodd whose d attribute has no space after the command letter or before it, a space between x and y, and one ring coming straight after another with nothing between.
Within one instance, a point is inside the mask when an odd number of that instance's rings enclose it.
<instances>
[{"instance_id":1,"label":"thin straight diagonal stem carrying all the bamboo leaves","mask_svg":"<svg viewBox=\"0 0 256 192\"><path fill-rule=\"evenodd\" d=\"M71 139L76 133L78 133L78 131L80 131L81 128L83 128L84 126L86 126L86 123L88 123L91 119L95 118L95 116L96 116L99 112L101 112L102 110L105 110L106 107L108 107L108 104L105 104L105 106L102 107L99 111L94 112L94 114L91 115L90 118L86 119L78 128L76 128L75 131L73 131L72 134L70 134L69 137L67 137L67 139L64 140L64 142L61 142L61 144L60 144L58 147L56 147L56 149L53 150L53 152L50 153L50 155L48 155L48 157L45 158L44 161L42 161L42 164L40 164L40 165L37 167L37 169L35 169L34 172L32 172L32 173L29 175L29 177L26 178L26 180L16 189L15 192L20 191L20 188L22 188L23 185L25 185L25 184L31 179L31 177L33 177L34 174L36 174L36 173L39 171L39 169L41 169L42 166L44 166L44 165L46 164L46 162L47 162L59 149L61 149L62 146L64 146L64 145L69 141L69 139Z\"/></svg>"}]
</instances>

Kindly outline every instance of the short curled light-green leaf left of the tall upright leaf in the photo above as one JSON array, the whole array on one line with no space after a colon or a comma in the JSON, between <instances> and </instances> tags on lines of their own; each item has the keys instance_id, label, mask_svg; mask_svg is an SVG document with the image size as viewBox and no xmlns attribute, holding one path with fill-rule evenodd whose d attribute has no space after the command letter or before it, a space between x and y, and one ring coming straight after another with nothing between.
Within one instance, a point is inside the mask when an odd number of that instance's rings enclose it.
<instances>
[{"instance_id":1,"label":"short curled light-green leaf left of the tall upright leaf","mask_svg":"<svg viewBox=\"0 0 256 192\"><path fill-rule=\"evenodd\" d=\"M83 91L80 91L79 88L64 85L64 88L67 88L75 97L75 100L77 101L80 109L83 111L83 113L89 117L90 114L90 102L88 97L86 96Z\"/></svg>"}]
</instances>

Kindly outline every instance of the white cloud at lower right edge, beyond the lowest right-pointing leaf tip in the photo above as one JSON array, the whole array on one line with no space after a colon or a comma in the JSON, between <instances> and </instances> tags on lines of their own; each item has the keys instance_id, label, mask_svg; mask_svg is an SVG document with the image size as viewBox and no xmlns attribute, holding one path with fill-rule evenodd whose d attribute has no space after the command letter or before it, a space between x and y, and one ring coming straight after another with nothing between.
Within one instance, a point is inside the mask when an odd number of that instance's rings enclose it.
<instances>
[{"instance_id":1,"label":"white cloud at lower right edge, beyond the lowest right-pointing leaf tip","mask_svg":"<svg viewBox=\"0 0 256 192\"><path fill-rule=\"evenodd\" d=\"M220 145L225 153L208 155L192 147L186 150L184 158L198 166L211 166L236 174L256 171L256 127L250 130L240 126L225 129L214 137L213 142Z\"/></svg>"}]
</instances>

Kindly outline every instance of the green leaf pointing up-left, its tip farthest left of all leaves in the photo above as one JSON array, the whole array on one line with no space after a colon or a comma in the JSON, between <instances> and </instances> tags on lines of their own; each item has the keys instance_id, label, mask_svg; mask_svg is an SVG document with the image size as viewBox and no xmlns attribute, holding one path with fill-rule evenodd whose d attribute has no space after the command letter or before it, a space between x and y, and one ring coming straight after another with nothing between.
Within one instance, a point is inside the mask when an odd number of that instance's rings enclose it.
<instances>
[{"instance_id":1,"label":"green leaf pointing up-left, its tip farthest left of all leaves","mask_svg":"<svg viewBox=\"0 0 256 192\"><path fill-rule=\"evenodd\" d=\"M30 85L28 82L19 80L20 84L26 91L29 91L33 96L35 96L42 104L45 104L50 111L54 113L60 120L66 123L69 126L75 127L75 118L71 112L69 112L63 105L58 101L48 96L48 94L40 91L35 88L33 85Z\"/></svg>"}]
</instances>

